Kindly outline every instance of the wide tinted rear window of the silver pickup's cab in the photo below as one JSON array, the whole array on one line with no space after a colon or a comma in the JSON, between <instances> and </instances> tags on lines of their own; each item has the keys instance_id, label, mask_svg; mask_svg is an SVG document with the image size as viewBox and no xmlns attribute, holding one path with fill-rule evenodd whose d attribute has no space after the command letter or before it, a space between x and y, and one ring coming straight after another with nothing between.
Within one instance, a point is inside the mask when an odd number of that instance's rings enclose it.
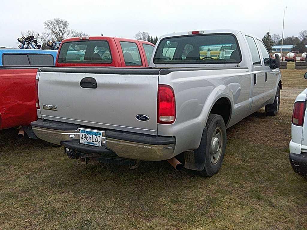
<instances>
[{"instance_id":1,"label":"wide tinted rear window of the silver pickup's cab","mask_svg":"<svg viewBox=\"0 0 307 230\"><path fill-rule=\"evenodd\" d=\"M207 34L161 40L155 64L240 63L241 52L234 35Z\"/></svg>"}]
</instances>

